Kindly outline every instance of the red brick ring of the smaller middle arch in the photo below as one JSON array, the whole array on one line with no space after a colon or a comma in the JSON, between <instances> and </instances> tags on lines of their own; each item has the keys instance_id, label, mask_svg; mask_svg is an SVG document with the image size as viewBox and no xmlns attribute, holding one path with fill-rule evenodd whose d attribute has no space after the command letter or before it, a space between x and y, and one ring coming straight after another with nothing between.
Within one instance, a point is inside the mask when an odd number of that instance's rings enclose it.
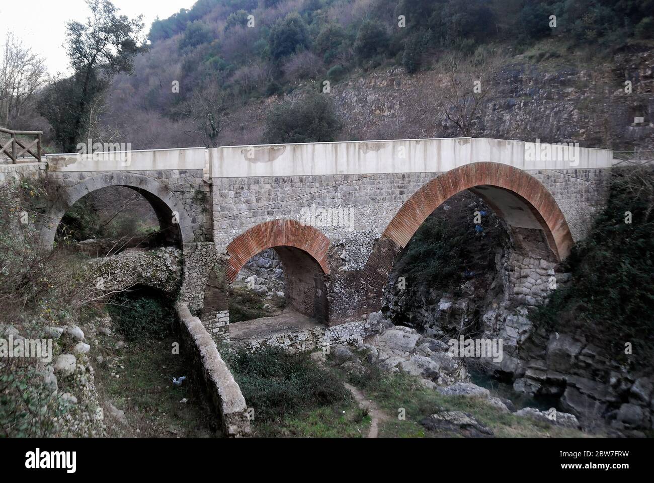
<instances>
[{"instance_id":1,"label":"red brick ring of the smaller middle arch","mask_svg":"<svg viewBox=\"0 0 654 483\"><path fill-rule=\"evenodd\" d=\"M330 240L308 224L295 220L273 220L252 226L227 245L227 283L232 283L243 265L262 251L273 247L295 247L318 262L324 274L329 273L327 254Z\"/></svg>"}]
</instances>

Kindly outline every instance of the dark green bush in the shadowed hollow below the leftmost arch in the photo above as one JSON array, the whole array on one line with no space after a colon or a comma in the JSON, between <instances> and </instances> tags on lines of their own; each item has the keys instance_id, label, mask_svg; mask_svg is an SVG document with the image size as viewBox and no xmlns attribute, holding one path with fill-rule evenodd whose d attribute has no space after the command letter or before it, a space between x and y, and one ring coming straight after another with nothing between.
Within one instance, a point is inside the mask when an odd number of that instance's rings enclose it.
<instances>
[{"instance_id":1,"label":"dark green bush in the shadowed hollow below the leftmost arch","mask_svg":"<svg viewBox=\"0 0 654 483\"><path fill-rule=\"evenodd\" d=\"M175 317L163 294L146 289L118 293L107 310L128 340L160 339L169 334Z\"/></svg>"}]
</instances>

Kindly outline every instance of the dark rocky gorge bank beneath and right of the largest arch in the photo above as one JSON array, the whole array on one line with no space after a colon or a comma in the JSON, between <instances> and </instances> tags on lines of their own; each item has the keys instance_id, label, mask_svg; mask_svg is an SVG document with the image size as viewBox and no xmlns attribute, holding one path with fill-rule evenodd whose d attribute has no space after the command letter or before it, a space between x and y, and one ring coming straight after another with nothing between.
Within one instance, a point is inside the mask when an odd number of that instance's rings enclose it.
<instances>
[{"instance_id":1,"label":"dark rocky gorge bank beneath and right of the largest arch","mask_svg":"<svg viewBox=\"0 0 654 483\"><path fill-rule=\"evenodd\" d=\"M432 216L446 213L437 210ZM385 295L387 317L443 342L460 334L502 340L501 361L475 358L474 364L511 380L515 391L559 398L560 407L588 427L608 423L636 434L651 429L651 370L636 371L617 361L610 349L590 342L597 331L593 321L571 321L560 332L532 321L536 308L553 287L569 283L570 274L537 245L516 243L522 235L514 229L508 243L485 247L493 263L462 277L459 287L419 283L402 289L395 282L402 275L396 270Z\"/></svg>"}]
</instances>

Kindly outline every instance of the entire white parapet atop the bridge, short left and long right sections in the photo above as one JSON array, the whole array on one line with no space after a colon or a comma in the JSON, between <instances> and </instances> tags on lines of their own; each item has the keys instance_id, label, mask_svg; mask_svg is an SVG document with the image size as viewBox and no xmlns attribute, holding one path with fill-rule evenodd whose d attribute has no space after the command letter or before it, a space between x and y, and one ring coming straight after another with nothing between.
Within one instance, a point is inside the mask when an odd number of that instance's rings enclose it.
<instances>
[{"instance_id":1,"label":"entire white parapet atop the bridge, short left and long right sections","mask_svg":"<svg viewBox=\"0 0 654 483\"><path fill-rule=\"evenodd\" d=\"M491 161L521 170L609 168L613 151L485 137L48 154L52 171L203 170L212 177L443 172Z\"/></svg>"}]
</instances>

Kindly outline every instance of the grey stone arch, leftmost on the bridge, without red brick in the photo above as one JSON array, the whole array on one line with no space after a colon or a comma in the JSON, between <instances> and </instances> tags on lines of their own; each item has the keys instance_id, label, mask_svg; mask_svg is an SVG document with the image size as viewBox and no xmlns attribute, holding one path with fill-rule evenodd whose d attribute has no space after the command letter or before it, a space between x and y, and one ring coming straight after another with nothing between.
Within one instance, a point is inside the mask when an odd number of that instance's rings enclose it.
<instances>
[{"instance_id":1,"label":"grey stone arch, leftmost on the bridge, without red brick","mask_svg":"<svg viewBox=\"0 0 654 483\"><path fill-rule=\"evenodd\" d=\"M80 198L90 192L107 187L127 187L139 192L148 200L154 209L162 228L174 228L179 230L182 243L194 241L194 234L191 226L191 219L184 209L184 206L177 200L175 195L167 187L152 178L128 173L124 171L112 171L84 179L72 187L63 188L61 196L48 212L47 219L41 228L41 243L51 249L54 245L54 238L57 227L61 223L63 215ZM173 213L177 213L178 223L173 223Z\"/></svg>"}]
</instances>

